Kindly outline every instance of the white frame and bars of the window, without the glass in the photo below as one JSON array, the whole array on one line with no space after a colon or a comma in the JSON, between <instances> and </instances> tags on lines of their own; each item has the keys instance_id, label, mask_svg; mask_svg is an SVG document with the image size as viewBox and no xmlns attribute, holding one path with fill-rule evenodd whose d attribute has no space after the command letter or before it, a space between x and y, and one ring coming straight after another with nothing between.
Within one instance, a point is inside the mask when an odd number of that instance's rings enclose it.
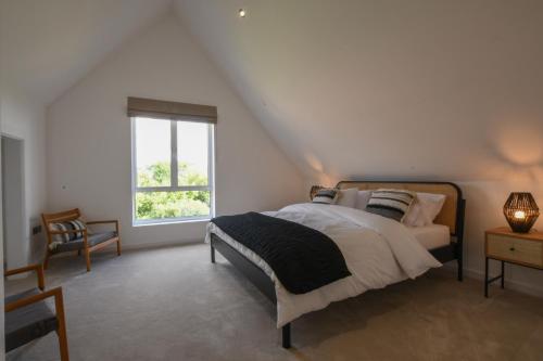
<instances>
[{"instance_id":1,"label":"white frame and bars of the window, without the glass","mask_svg":"<svg viewBox=\"0 0 543 361\"><path fill-rule=\"evenodd\" d=\"M138 164L137 164L137 118L147 118L154 121L169 121L171 137L171 185L165 186L138 186ZM182 222L209 221L215 217L215 124L206 123L207 126L207 185L179 185L178 159L177 159L177 124L179 121L199 123L190 120L163 119L151 117L130 117L131 136L131 203L132 203L132 225L167 224ZM136 194L139 192L186 192L186 191L209 191L210 192L210 215L189 216L176 218L137 219Z\"/></svg>"}]
</instances>

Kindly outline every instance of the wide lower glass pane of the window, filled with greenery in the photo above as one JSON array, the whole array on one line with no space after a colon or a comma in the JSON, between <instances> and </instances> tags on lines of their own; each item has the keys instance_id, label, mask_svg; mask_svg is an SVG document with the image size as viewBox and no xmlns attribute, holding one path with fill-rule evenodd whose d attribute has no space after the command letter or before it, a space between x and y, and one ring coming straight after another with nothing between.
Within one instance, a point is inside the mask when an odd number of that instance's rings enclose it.
<instances>
[{"instance_id":1,"label":"wide lower glass pane of the window, filled with greenery","mask_svg":"<svg viewBox=\"0 0 543 361\"><path fill-rule=\"evenodd\" d=\"M210 216L210 191L137 192L136 219Z\"/></svg>"}]
</instances>

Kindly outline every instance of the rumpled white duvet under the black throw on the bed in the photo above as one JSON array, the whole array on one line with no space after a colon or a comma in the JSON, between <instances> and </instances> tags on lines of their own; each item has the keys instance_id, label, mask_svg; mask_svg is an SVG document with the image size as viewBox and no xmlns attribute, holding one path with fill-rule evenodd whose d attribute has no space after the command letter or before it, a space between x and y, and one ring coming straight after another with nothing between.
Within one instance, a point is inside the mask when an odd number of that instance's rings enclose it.
<instances>
[{"instance_id":1,"label":"rumpled white duvet under the black throw on the bed","mask_svg":"<svg viewBox=\"0 0 543 361\"><path fill-rule=\"evenodd\" d=\"M357 296L371 288L415 279L441 263L397 221L364 210L334 205L295 204L265 215L291 220L328 235L338 245L351 275L306 294L289 293L269 266L214 223L209 223L205 242L215 233L257 265L275 283L277 327L300 315L320 310L330 302Z\"/></svg>"}]
</instances>

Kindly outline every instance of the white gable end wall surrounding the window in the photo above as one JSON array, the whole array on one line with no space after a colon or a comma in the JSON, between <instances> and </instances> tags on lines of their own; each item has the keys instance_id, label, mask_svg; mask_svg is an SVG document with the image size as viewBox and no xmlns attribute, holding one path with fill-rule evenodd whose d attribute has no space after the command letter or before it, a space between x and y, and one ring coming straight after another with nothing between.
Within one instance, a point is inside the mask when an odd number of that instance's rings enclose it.
<instances>
[{"instance_id":1,"label":"white gable end wall surrounding the window","mask_svg":"<svg viewBox=\"0 0 543 361\"><path fill-rule=\"evenodd\" d=\"M87 219L118 218L127 246L202 240L204 222L131 225L128 95L218 107L218 215L274 209L304 197L296 168L177 21L165 17L49 107L49 210L80 207Z\"/></svg>"}]
</instances>

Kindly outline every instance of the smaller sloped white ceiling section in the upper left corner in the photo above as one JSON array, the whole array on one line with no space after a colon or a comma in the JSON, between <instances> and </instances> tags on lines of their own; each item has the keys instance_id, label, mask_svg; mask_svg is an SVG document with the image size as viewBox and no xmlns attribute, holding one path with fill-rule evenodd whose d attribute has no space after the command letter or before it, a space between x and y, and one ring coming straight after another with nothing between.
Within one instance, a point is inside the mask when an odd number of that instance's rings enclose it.
<instances>
[{"instance_id":1,"label":"smaller sloped white ceiling section in the upper left corner","mask_svg":"<svg viewBox=\"0 0 543 361\"><path fill-rule=\"evenodd\" d=\"M171 0L0 0L1 81L49 104Z\"/></svg>"}]
</instances>

